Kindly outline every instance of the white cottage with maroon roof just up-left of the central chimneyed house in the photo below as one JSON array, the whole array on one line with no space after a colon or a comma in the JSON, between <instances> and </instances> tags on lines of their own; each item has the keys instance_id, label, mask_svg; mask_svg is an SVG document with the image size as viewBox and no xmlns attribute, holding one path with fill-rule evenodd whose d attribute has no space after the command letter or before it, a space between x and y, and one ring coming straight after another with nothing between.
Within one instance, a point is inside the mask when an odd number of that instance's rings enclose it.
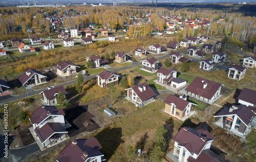
<instances>
[{"instance_id":1,"label":"white cottage with maroon roof just up-left of the central chimneyed house","mask_svg":"<svg viewBox=\"0 0 256 162\"><path fill-rule=\"evenodd\" d=\"M108 72L104 70L99 75L96 76L98 78L98 85L100 87L108 88L110 84L118 85L118 77L119 75L115 73Z\"/></svg>"}]
</instances>

